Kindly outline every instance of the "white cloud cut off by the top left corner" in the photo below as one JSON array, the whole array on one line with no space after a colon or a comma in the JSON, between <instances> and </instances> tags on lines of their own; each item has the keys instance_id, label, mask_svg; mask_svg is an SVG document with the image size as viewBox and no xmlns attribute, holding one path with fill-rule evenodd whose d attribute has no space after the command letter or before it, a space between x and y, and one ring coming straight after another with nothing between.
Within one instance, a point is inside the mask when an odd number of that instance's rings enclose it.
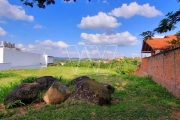
<instances>
[{"instance_id":1,"label":"white cloud cut off by the top left corner","mask_svg":"<svg viewBox=\"0 0 180 120\"><path fill-rule=\"evenodd\" d=\"M34 17L26 15L21 6L11 5L8 0L0 0L0 17L7 17L14 20L33 21Z\"/></svg>"}]
</instances>

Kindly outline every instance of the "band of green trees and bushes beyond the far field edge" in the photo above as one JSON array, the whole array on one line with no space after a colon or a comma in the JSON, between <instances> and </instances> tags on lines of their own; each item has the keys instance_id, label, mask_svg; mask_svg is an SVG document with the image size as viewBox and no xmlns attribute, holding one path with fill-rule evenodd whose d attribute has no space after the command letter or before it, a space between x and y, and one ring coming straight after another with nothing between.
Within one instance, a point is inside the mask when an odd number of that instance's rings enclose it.
<instances>
[{"instance_id":1,"label":"band of green trees and bushes beyond the far field edge","mask_svg":"<svg viewBox=\"0 0 180 120\"><path fill-rule=\"evenodd\" d=\"M138 58L122 58L122 59L99 59L99 60L61 60L55 61L51 66L73 66L86 68L105 68L115 70L119 74L133 75L140 64Z\"/></svg>"}]
</instances>

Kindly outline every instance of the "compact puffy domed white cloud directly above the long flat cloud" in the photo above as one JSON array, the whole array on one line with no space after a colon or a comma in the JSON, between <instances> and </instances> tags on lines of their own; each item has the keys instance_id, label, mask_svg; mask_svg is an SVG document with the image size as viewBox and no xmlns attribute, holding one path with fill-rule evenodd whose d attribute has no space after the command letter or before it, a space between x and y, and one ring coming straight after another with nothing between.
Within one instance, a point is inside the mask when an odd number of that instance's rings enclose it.
<instances>
[{"instance_id":1,"label":"compact puffy domed white cloud directly above the long flat cloud","mask_svg":"<svg viewBox=\"0 0 180 120\"><path fill-rule=\"evenodd\" d=\"M113 16L109 16L106 13L99 12L95 16L83 17L81 23L78 24L79 28L89 29L105 29L105 28L116 28L121 23L118 23L117 19Z\"/></svg>"}]
</instances>

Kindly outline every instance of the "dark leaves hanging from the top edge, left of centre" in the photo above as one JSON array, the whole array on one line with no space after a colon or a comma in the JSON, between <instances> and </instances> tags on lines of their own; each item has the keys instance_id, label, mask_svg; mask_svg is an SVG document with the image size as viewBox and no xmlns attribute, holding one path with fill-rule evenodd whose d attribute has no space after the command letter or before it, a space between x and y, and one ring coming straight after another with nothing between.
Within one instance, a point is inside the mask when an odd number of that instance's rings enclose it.
<instances>
[{"instance_id":1,"label":"dark leaves hanging from the top edge, left of centre","mask_svg":"<svg viewBox=\"0 0 180 120\"><path fill-rule=\"evenodd\" d=\"M34 4L37 4L39 8L45 8L46 5L55 4L55 0L20 0L27 6L33 7ZM64 0L65 2L69 2L70 0ZM76 2L76 0L73 0ZM91 0L88 0L91 1Z\"/></svg>"}]
</instances>

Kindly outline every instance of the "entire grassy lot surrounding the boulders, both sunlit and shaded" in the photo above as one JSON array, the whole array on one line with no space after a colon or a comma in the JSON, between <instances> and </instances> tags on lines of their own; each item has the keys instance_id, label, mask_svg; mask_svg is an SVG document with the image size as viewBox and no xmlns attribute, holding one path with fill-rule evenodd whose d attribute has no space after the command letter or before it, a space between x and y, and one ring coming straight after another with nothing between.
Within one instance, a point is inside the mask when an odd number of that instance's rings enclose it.
<instances>
[{"instance_id":1,"label":"entire grassy lot surrounding the boulders, both sunlit and shaded","mask_svg":"<svg viewBox=\"0 0 180 120\"><path fill-rule=\"evenodd\" d=\"M180 118L180 100L173 97L165 88L154 83L148 77L120 76L113 71L101 69L94 73L93 69L86 72L80 68L74 74L70 67L48 67L41 70L9 70L0 73L0 92L10 91L21 79L29 76L63 76L63 81L69 81L80 75L88 75L99 82L115 87L112 98L120 102L110 106L98 106L86 102L64 102L58 105L25 106L14 109L0 109L0 119L19 120L178 120ZM12 83L13 82L13 83ZM1 94L0 101L3 96Z\"/></svg>"}]
</instances>

